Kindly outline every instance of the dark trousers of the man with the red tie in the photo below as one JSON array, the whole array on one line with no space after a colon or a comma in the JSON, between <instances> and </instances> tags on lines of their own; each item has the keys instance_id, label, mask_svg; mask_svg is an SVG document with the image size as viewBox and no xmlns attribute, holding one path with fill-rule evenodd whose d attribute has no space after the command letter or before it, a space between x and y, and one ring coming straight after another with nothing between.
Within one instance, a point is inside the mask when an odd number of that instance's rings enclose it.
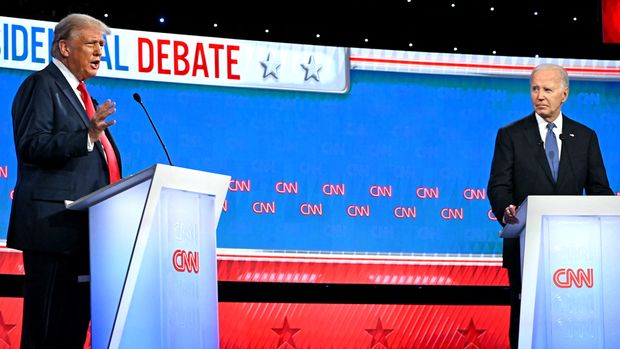
<instances>
[{"instance_id":1,"label":"dark trousers of the man with the red tie","mask_svg":"<svg viewBox=\"0 0 620 349\"><path fill-rule=\"evenodd\" d=\"M84 258L24 251L22 349L82 349L90 320ZM86 269L86 270L84 270Z\"/></svg>"}]
</instances>

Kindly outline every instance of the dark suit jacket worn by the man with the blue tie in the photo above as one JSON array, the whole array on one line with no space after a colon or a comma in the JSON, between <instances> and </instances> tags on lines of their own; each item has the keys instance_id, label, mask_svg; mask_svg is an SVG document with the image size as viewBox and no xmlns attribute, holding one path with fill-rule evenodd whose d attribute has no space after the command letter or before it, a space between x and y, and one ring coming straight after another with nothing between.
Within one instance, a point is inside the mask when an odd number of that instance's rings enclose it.
<instances>
[{"instance_id":1,"label":"dark suit jacket worn by the man with the blue tie","mask_svg":"<svg viewBox=\"0 0 620 349\"><path fill-rule=\"evenodd\" d=\"M487 195L500 221L508 205L529 195L613 195L596 133L563 116L557 183L553 182L534 113L497 132ZM503 225L503 223L502 223ZM504 239L504 267L520 267L519 239Z\"/></svg>"}]
</instances>

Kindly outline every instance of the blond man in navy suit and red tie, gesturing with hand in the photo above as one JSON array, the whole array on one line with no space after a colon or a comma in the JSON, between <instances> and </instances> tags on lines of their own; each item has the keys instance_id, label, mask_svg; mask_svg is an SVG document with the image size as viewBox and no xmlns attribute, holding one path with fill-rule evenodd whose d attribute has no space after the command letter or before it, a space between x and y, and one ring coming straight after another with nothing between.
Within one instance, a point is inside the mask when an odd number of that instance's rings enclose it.
<instances>
[{"instance_id":1,"label":"blond man in navy suit and red tie, gesturing with hand","mask_svg":"<svg viewBox=\"0 0 620 349\"><path fill-rule=\"evenodd\" d=\"M90 320L88 215L76 200L120 178L108 127L115 103L95 109L84 81L97 75L110 29L83 14L55 27L52 62L31 74L12 107L17 155L7 246L22 250L21 347L78 349Z\"/></svg>"}]
</instances>

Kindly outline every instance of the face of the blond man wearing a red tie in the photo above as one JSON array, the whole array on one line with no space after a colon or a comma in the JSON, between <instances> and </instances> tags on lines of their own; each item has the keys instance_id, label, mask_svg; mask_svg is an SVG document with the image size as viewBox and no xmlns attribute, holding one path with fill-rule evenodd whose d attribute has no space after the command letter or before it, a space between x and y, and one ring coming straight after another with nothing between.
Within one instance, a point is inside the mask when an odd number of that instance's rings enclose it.
<instances>
[{"instance_id":1,"label":"face of the blond man wearing a red tie","mask_svg":"<svg viewBox=\"0 0 620 349\"><path fill-rule=\"evenodd\" d=\"M79 29L71 38L61 40L59 44L65 65L78 80L87 80L97 75L105 44L99 28Z\"/></svg>"}]
</instances>

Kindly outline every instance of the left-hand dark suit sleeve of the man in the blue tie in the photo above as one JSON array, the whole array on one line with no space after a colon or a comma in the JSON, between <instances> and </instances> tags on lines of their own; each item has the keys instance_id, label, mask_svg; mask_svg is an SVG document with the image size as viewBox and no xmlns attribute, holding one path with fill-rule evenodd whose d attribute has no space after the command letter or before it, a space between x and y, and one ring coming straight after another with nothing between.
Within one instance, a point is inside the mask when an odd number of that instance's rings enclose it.
<instances>
[{"instance_id":1,"label":"left-hand dark suit sleeve of the man in the blue tie","mask_svg":"<svg viewBox=\"0 0 620 349\"><path fill-rule=\"evenodd\" d=\"M487 187L487 195L491 203L493 214L501 224L504 210L514 202L514 145L505 128L497 132L495 151L491 163L491 175Z\"/></svg>"}]
</instances>

